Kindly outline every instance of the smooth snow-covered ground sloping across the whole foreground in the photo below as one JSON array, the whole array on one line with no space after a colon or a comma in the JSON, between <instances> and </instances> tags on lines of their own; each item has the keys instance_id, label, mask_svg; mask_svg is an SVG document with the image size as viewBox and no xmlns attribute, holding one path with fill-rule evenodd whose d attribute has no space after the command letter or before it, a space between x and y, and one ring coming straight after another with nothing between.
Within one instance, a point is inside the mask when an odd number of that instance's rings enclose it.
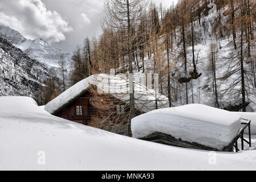
<instances>
[{"instance_id":1,"label":"smooth snow-covered ground sloping across the whole foreground","mask_svg":"<svg viewBox=\"0 0 256 182\"><path fill-rule=\"evenodd\" d=\"M54 117L29 97L0 97L0 170L7 169L255 170L256 150L166 146Z\"/></svg>"}]
</instances>

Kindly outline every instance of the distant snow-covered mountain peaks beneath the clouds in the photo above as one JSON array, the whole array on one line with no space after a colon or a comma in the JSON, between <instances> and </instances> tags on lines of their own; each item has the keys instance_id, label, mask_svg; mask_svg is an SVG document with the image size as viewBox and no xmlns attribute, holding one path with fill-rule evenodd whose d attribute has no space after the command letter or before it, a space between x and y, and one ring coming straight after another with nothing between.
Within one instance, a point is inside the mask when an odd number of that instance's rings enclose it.
<instances>
[{"instance_id":1,"label":"distant snow-covered mountain peaks beneath the clouds","mask_svg":"<svg viewBox=\"0 0 256 182\"><path fill-rule=\"evenodd\" d=\"M0 26L0 36L9 40L15 47L26 52L31 58L46 64L48 68L58 67L58 60L62 55L63 59L70 63L72 53L65 53L60 48L56 49L43 39L26 39L18 31L6 26Z\"/></svg>"}]
</instances>

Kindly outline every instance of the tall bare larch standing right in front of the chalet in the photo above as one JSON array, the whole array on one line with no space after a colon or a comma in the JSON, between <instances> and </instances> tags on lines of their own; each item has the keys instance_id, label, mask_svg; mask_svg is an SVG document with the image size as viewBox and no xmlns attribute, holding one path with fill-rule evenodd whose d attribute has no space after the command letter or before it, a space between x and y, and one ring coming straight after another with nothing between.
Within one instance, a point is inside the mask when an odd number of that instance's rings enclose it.
<instances>
[{"instance_id":1,"label":"tall bare larch standing right in front of the chalet","mask_svg":"<svg viewBox=\"0 0 256 182\"><path fill-rule=\"evenodd\" d=\"M123 30L126 35L124 36L123 43L126 44L125 49L128 55L128 70L129 75L133 74L133 30L140 22L140 13L144 11L146 5L144 1L140 0L108 0L105 1L105 13L107 15L107 25L112 27L115 31ZM132 77L129 76L129 79ZM132 136L131 119L136 116L135 114L135 97L133 81L131 83L131 90L129 90L129 118L128 118L128 136Z\"/></svg>"}]
</instances>

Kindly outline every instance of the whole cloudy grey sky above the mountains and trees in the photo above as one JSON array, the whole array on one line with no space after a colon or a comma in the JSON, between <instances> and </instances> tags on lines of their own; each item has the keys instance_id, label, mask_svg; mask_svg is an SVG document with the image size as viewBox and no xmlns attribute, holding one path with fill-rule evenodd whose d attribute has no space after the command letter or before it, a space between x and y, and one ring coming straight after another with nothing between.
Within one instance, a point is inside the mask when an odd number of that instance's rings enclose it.
<instances>
[{"instance_id":1,"label":"whole cloudy grey sky above the mountains and trees","mask_svg":"<svg viewBox=\"0 0 256 182\"><path fill-rule=\"evenodd\" d=\"M166 8L177 1L152 0ZM0 24L29 39L43 38L66 52L87 36L99 36L103 17L104 0L0 0Z\"/></svg>"}]
</instances>

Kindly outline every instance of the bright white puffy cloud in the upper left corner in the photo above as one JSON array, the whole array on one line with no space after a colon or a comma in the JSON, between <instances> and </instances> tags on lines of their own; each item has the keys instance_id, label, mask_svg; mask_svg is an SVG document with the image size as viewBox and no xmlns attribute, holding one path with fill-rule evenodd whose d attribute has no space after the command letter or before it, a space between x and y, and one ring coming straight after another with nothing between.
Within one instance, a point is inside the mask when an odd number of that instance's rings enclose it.
<instances>
[{"instance_id":1,"label":"bright white puffy cloud in the upper left corner","mask_svg":"<svg viewBox=\"0 0 256 182\"><path fill-rule=\"evenodd\" d=\"M47 10L41 0L1 0L0 24L9 26L30 39L48 42L65 40L73 30L58 12Z\"/></svg>"}]
</instances>

